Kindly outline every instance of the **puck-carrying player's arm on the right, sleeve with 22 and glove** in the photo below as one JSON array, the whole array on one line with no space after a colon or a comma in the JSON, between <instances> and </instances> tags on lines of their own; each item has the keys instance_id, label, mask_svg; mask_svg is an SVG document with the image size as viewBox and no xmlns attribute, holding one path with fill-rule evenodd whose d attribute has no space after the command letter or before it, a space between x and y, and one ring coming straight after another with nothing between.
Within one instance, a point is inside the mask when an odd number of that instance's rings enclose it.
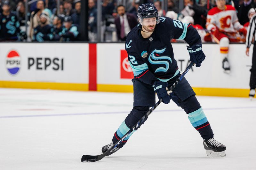
<instances>
[{"instance_id":1,"label":"puck-carrying player's arm on the right, sleeve with 22 and glove","mask_svg":"<svg viewBox=\"0 0 256 170\"><path fill-rule=\"evenodd\" d=\"M200 67L205 59L200 35L191 24L185 24L178 20L172 20L172 22L174 28L173 38L184 40L188 43L187 49L190 61L196 63L196 67Z\"/></svg>"}]
</instances>

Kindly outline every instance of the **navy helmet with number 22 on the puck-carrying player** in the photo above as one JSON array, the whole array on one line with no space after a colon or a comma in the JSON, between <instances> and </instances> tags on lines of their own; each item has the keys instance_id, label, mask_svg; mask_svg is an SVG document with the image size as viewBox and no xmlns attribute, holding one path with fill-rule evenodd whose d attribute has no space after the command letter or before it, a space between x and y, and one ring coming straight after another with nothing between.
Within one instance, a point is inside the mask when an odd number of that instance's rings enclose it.
<instances>
[{"instance_id":1,"label":"navy helmet with number 22 on the puck-carrying player","mask_svg":"<svg viewBox=\"0 0 256 170\"><path fill-rule=\"evenodd\" d=\"M156 6L148 3L148 4L141 4L138 8L138 18L140 25L143 25L144 18L155 18L156 17L156 24L160 22L160 17L158 15L158 11Z\"/></svg>"}]
</instances>

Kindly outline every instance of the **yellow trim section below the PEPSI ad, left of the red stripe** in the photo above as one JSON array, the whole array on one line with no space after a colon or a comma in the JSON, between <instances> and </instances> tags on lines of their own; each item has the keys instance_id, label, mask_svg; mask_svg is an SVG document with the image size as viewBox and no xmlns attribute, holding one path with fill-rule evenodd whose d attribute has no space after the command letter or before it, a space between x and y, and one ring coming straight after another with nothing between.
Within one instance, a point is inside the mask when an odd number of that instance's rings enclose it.
<instances>
[{"instance_id":1,"label":"yellow trim section below the PEPSI ad, left of the red stripe","mask_svg":"<svg viewBox=\"0 0 256 170\"><path fill-rule=\"evenodd\" d=\"M0 87L25 88L25 89L52 89L52 90L76 90L88 91L88 84L79 83L53 83L53 82L24 82L24 81L0 81Z\"/></svg>"}]
</instances>

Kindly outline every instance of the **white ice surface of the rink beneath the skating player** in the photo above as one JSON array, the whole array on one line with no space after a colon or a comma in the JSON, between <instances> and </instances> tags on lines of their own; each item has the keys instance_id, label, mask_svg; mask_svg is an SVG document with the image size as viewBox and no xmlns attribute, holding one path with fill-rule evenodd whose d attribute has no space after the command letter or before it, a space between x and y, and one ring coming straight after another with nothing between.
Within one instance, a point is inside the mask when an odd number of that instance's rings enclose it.
<instances>
[{"instance_id":1,"label":"white ice surface of the rink beneath the skating player","mask_svg":"<svg viewBox=\"0 0 256 170\"><path fill-rule=\"evenodd\" d=\"M132 109L132 93L0 88L0 169L256 169L256 99L197 96L227 156L206 156L185 112L161 104L118 152L101 154Z\"/></svg>"}]
</instances>

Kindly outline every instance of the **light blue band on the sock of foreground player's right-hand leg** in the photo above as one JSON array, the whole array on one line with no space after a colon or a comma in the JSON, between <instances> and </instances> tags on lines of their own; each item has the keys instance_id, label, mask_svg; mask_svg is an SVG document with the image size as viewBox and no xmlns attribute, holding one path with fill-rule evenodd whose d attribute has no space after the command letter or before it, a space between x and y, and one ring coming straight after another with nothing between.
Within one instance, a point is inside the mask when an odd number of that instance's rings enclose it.
<instances>
[{"instance_id":1,"label":"light blue band on the sock of foreground player's right-hand leg","mask_svg":"<svg viewBox=\"0 0 256 170\"><path fill-rule=\"evenodd\" d=\"M208 121L202 107L200 107L198 110L192 113L189 113L188 119L190 123L193 125L193 127L200 126L201 124L204 124L205 122Z\"/></svg>"}]
</instances>

